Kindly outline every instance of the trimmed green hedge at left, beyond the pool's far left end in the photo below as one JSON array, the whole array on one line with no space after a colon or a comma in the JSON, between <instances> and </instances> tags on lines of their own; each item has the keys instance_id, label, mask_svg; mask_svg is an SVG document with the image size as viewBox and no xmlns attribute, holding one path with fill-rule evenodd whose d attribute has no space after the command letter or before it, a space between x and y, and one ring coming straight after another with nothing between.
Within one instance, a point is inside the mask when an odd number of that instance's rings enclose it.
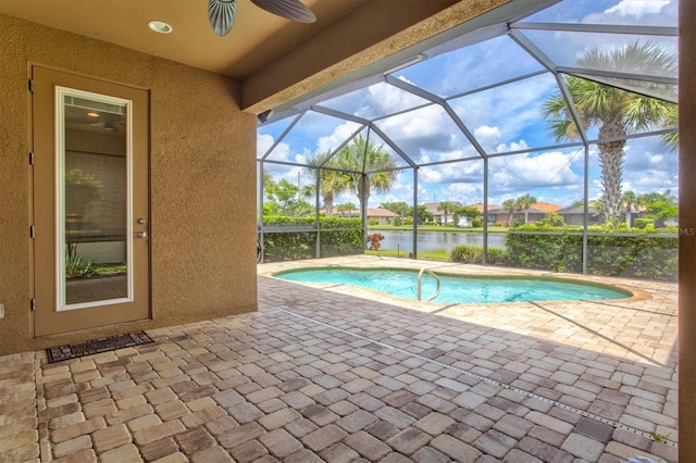
<instances>
[{"instance_id":1,"label":"trimmed green hedge at left, beyond the pool's far left end","mask_svg":"<svg viewBox=\"0 0 696 463\"><path fill-rule=\"evenodd\" d=\"M265 262L297 261L316 258L316 220L266 215L263 225L263 260ZM307 230L297 229L304 228ZM360 218L320 217L320 255L355 255L363 252ZM282 232L283 228L290 228ZM291 229L295 228L295 229Z\"/></svg>"}]
</instances>

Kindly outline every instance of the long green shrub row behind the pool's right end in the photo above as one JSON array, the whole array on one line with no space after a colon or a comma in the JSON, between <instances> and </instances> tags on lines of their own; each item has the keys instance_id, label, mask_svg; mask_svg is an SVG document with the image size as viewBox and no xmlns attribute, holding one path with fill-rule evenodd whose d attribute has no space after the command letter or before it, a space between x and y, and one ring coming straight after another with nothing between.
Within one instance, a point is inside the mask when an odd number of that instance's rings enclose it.
<instances>
[{"instance_id":1,"label":"long green shrub row behind the pool's right end","mask_svg":"<svg viewBox=\"0 0 696 463\"><path fill-rule=\"evenodd\" d=\"M524 226L524 232L558 232L559 228ZM645 229L636 236L605 234L587 237L587 271L591 275L622 276L662 281L676 280L678 238L652 237ZM638 233L642 236L638 236ZM655 234L655 232L652 232ZM505 250L488 248L488 264L552 272L582 273L583 237L577 235L509 234ZM459 246L450 260L482 263L483 249Z\"/></svg>"}]
</instances>

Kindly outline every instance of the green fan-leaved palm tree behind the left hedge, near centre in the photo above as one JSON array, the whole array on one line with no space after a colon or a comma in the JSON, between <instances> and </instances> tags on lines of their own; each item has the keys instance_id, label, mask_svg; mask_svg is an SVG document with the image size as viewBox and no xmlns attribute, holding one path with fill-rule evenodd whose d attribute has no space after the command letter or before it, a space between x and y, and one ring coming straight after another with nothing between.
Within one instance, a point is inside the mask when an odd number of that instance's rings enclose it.
<instances>
[{"instance_id":1,"label":"green fan-leaved palm tree behind the left hedge, near centre","mask_svg":"<svg viewBox=\"0 0 696 463\"><path fill-rule=\"evenodd\" d=\"M362 135L338 152L336 167L346 172L341 175L343 182L358 196L361 211L368 207L373 190L386 192L396 182L396 164L389 153Z\"/></svg>"}]
</instances>

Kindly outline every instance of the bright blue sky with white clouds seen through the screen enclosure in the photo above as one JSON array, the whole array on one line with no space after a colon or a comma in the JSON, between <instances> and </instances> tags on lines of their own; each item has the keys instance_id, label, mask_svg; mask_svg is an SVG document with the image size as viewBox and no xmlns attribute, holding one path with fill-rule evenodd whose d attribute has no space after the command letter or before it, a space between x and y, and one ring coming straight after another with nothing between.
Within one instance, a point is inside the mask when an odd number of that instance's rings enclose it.
<instances>
[{"instance_id":1,"label":"bright blue sky with white clouds seen through the screen enclosure","mask_svg":"<svg viewBox=\"0 0 696 463\"><path fill-rule=\"evenodd\" d=\"M676 26L676 0L571 0L563 1L523 22L562 22L586 24L621 24ZM598 33L570 33L522 29L559 66L576 66L576 60L593 48L607 51L632 40L649 40L666 51L676 53L675 37L641 37ZM480 43L426 58L391 75L447 99L475 141L490 155L488 164L488 203L501 204L529 193L538 201L568 207L584 196L585 153L583 147L554 146L540 117L543 103L558 92L556 79L514 40L501 36ZM520 76L526 78L510 82ZM670 75L669 77L675 77ZM492 84L506 83L485 90ZM386 83L346 93L320 103L326 108L373 120L406 154L422 166L418 173L419 204L458 201L461 204L483 202L484 163L477 150L438 104L430 104ZM413 110L413 108L417 108ZM400 112L400 113L399 113ZM393 116L388 114L399 113ZM386 116L386 117L385 117ZM277 182L286 178L307 185L308 159L338 148L360 130L353 122L308 112L278 142L291 120L259 127L258 157L295 165L264 163ZM391 154L397 166L408 166L380 136L363 129L370 141ZM597 128L588 132L597 137ZM531 152L498 155L506 152ZM588 197L601 196L601 170L596 146L589 148ZM431 163L448 162L434 165ZM678 155L661 142L659 136L630 139L623 164L623 191L678 192ZM413 201L413 171L402 170L387 193L372 193L369 207L381 203ZM345 193L334 200L358 203L355 195Z\"/></svg>"}]
</instances>

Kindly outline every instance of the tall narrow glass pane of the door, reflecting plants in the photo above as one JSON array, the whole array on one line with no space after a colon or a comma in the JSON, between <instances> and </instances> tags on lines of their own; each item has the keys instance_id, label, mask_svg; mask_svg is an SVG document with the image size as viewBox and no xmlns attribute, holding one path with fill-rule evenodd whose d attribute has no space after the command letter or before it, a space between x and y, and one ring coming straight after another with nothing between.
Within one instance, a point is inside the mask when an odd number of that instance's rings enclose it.
<instances>
[{"instance_id":1,"label":"tall narrow glass pane of the door, reflecting plants","mask_svg":"<svg viewBox=\"0 0 696 463\"><path fill-rule=\"evenodd\" d=\"M128 105L60 95L59 306L82 309L129 293Z\"/></svg>"}]
</instances>

